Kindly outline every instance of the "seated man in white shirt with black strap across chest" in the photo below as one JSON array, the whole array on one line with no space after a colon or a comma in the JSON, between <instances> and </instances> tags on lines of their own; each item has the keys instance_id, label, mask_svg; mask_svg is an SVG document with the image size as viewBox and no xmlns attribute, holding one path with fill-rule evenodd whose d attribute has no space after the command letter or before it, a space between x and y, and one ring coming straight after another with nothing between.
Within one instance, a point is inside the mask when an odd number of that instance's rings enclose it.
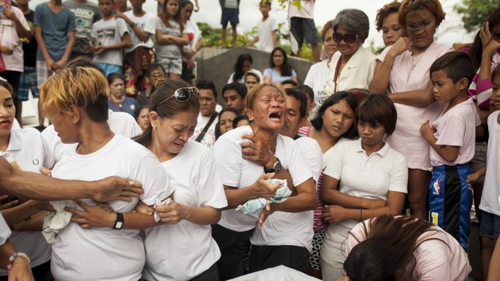
<instances>
[{"instance_id":1,"label":"seated man in white shirt with black strap across chest","mask_svg":"<svg viewBox=\"0 0 500 281\"><path fill-rule=\"evenodd\" d=\"M199 90L200 109L198 124L191 139L212 149L215 144L215 126L218 122L217 89L212 81L199 81L196 87Z\"/></svg>"}]
</instances>

